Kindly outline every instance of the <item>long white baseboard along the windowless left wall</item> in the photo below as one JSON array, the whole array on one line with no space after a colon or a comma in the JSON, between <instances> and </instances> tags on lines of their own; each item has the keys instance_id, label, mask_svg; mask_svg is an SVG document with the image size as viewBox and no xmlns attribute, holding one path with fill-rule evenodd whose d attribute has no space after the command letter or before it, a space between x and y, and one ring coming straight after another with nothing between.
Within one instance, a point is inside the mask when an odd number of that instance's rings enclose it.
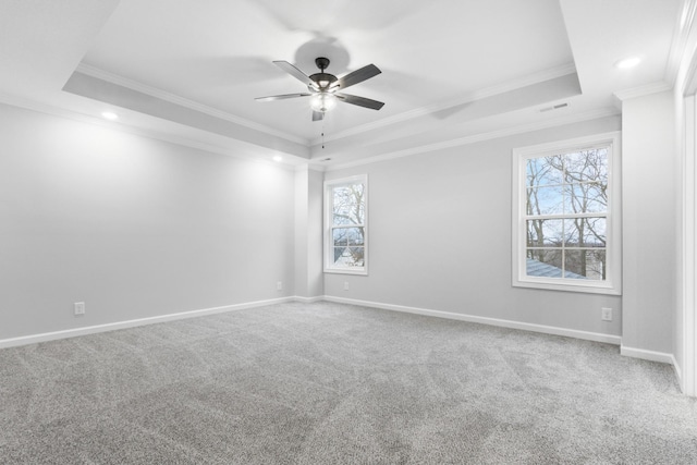
<instances>
[{"instance_id":1,"label":"long white baseboard along the windowless left wall","mask_svg":"<svg viewBox=\"0 0 697 465\"><path fill-rule=\"evenodd\" d=\"M135 320L117 321L106 325L96 325L83 328L68 329L63 331L45 332L41 334L30 334L20 338L11 338L0 340L0 348L14 347L17 345L35 344L37 342L54 341L57 339L75 338L78 335L95 334L98 332L114 331L118 329L134 328L145 325L161 323L166 321L175 321L185 318L203 317L205 315L223 314L227 311L244 310L247 308L265 307L267 305L283 304L295 302L296 297L281 297L269 301L248 302L245 304L225 305L222 307L203 308L199 310L181 311L170 315L160 315L157 317L138 318Z\"/></svg>"}]
</instances>

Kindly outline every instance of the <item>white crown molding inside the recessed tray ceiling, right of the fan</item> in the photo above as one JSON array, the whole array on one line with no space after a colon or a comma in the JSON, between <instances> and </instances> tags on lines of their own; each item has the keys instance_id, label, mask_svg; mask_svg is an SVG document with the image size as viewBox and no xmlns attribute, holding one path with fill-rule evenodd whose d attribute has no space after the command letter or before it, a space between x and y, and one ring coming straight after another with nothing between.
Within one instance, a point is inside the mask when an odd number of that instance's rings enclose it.
<instances>
[{"instance_id":1,"label":"white crown molding inside the recessed tray ceiling, right of the fan","mask_svg":"<svg viewBox=\"0 0 697 465\"><path fill-rule=\"evenodd\" d=\"M697 1L697 0L696 0ZM472 94L468 94L464 97L448 100L447 102L436 103L427 107L416 108L414 110L405 111L400 114L395 114L390 118L384 118L382 120L375 121L372 123L362 124L359 126L352 127L346 131L342 131L332 136L325 137L325 142L338 140L344 137L350 137L354 135L358 135L365 132L378 130L384 126L389 126L392 124L403 123L405 121L414 120L417 118L426 117L431 113L437 113L439 111L444 111L453 107L470 103L476 100L481 100L487 97L492 97L500 94L505 94L508 91L516 90L523 87L531 86L535 84L543 83L546 81L551 81L558 77L566 76L568 74L573 74L576 72L576 65L574 63L567 63L558 68L552 68L549 70L543 70L538 73L534 73L522 77L519 79L510 81L504 84L500 84L492 87L487 87L480 90L476 90ZM321 137L317 137L310 142L310 145L317 145L321 142Z\"/></svg>"}]
</instances>

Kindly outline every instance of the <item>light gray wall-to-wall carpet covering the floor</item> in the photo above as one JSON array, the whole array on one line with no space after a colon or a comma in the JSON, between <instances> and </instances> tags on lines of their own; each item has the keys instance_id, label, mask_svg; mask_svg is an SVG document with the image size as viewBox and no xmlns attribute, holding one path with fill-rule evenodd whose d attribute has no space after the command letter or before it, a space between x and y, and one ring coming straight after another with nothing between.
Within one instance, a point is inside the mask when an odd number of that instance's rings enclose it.
<instances>
[{"instance_id":1,"label":"light gray wall-to-wall carpet covering the floor","mask_svg":"<svg viewBox=\"0 0 697 465\"><path fill-rule=\"evenodd\" d=\"M697 464L617 347L288 304L0 351L3 464Z\"/></svg>"}]
</instances>

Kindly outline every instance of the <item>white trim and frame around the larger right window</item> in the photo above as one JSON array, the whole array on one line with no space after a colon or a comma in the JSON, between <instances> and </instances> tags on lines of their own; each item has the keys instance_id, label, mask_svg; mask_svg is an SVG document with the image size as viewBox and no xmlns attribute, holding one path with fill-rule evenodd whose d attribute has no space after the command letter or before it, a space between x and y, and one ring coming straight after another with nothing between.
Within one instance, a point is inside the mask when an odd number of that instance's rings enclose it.
<instances>
[{"instance_id":1,"label":"white trim and frame around the larger right window","mask_svg":"<svg viewBox=\"0 0 697 465\"><path fill-rule=\"evenodd\" d=\"M622 218L621 218L621 133L612 132L541 144L513 149L512 173L512 284L516 287L535 287L554 291L584 292L594 294L622 294ZM558 155L574 149L594 146L609 146L609 200L607 232L607 267L606 281L584 281L563 278L540 278L526 274L526 228L525 201L523 189L526 188L525 169L529 158Z\"/></svg>"}]
</instances>

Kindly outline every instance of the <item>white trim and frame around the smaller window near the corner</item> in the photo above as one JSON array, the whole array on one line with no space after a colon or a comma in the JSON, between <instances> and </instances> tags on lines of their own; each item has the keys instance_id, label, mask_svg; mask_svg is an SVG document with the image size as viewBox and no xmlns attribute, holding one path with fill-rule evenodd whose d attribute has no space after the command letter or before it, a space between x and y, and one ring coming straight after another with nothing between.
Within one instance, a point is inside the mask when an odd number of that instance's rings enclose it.
<instances>
[{"instance_id":1,"label":"white trim and frame around the smaller window near the corner","mask_svg":"<svg viewBox=\"0 0 697 465\"><path fill-rule=\"evenodd\" d=\"M333 256L333 242L331 237L331 227L332 227L332 198L331 192L333 187L346 185L346 184L355 184L363 183L363 196L364 196L364 219L363 219L363 228L364 228L364 252L363 252L363 267L353 267L353 268L339 268L333 266L333 261L331 257ZM350 178L342 178L339 180L330 180L325 181L325 233L323 233L323 242L325 242L325 272L326 273L338 273L338 274L359 274L367 276L368 274L368 175L367 174L358 174Z\"/></svg>"}]
</instances>

